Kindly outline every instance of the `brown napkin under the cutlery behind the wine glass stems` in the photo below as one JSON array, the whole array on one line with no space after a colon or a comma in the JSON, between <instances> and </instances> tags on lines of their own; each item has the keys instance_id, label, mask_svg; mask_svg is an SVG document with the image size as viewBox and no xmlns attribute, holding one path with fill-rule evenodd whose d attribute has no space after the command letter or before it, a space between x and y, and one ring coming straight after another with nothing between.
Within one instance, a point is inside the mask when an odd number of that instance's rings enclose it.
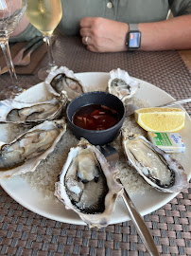
<instances>
[{"instance_id":1,"label":"brown napkin under the cutlery behind the wine glass stems","mask_svg":"<svg viewBox=\"0 0 191 256\"><path fill-rule=\"evenodd\" d=\"M10 53L12 59L17 55L17 53L26 45L28 42L22 42L22 43L16 43L13 46L10 46ZM21 74L21 75L31 75L35 74L37 72L38 66L43 60L43 56L46 53L47 48L45 43L43 43L42 46L39 46L32 54L31 54L31 59L30 59L30 64L28 65L15 65L15 71L16 74ZM0 66L3 69L4 66L6 66L6 60L4 57L4 54L1 50L0 52ZM2 75L3 76L3 75Z\"/></svg>"}]
</instances>

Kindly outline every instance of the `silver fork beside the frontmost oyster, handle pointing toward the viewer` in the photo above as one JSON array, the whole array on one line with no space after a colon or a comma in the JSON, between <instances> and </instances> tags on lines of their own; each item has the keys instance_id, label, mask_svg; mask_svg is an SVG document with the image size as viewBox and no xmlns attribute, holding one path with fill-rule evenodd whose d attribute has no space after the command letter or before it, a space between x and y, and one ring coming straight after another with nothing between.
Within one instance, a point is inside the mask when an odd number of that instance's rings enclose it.
<instances>
[{"instance_id":1,"label":"silver fork beside the frontmost oyster, handle pointing toward the viewer","mask_svg":"<svg viewBox=\"0 0 191 256\"><path fill-rule=\"evenodd\" d=\"M118 152L109 144L104 146L98 146L98 149L106 157L108 162L111 165L115 166L116 162L119 159ZM117 179L117 181L122 184L119 178ZM154 240L148 230L148 227L146 226L146 223L144 222L138 210L136 210L134 204L130 199L128 192L125 189L122 197L129 211L131 221L133 222L135 228L137 229L137 232L140 235L145 247L147 247L149 255L159 256L159 252L154 244Z\"/></svg>"}]
</instances>

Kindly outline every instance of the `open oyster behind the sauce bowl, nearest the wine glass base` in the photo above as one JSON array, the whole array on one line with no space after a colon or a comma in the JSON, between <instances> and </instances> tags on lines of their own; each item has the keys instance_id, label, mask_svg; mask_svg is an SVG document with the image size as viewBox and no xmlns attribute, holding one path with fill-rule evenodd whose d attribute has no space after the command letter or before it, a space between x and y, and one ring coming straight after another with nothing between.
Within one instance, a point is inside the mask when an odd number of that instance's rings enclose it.
<instances>
[{"instance_id":1,"label":"open oyster behind the sauce bowl, nearest the wine glass base","mask_svg":"<svg viewBox=\"0 0 191 256\"><path fill-rule=\"evenodd\" d=\"M45 79L45 84L54 95L59 96L62 93L66 93L69 101L84 92L81 82L75 77L74 72L66 66L61 66L50 72Z\"/></svg>"}]
</instances>

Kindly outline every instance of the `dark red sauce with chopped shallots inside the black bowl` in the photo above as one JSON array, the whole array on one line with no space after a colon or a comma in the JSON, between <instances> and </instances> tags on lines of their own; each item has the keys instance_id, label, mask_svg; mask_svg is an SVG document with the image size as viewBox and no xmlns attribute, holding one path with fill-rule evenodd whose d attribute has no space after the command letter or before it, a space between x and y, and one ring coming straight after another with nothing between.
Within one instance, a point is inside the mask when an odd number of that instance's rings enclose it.
<instances>
[{"instance_id":1,"label":"dark red sauce with chopped shallots inside the black bowl","mask_svg":"<svg viewBox=\"0 0 191 256\"><path fill-rule=\"evenodd\" d=\"M106 130L119 121L119 115L111 107L90 104L78 109L73 117L73 123L87 130Z\"/></svg>"}]
</instances>

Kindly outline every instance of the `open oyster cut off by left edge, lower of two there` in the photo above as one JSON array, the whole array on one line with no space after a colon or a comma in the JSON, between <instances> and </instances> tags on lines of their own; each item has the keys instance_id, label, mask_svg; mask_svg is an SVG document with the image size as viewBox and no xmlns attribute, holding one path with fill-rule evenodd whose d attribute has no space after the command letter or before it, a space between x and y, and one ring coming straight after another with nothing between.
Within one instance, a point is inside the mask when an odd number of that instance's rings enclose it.
<instances>
[{"instance_id":1,"label":"open oyster cut off by left edge, lower of two there","mask_svg":"<svg viewBox=\"0 0 191 256\"><path fill-rule=\"evenodd\" d=\"M66 131L63 119L44 121L0 147L0 179L35 171Z\"/></svg>"}]
</instances>

